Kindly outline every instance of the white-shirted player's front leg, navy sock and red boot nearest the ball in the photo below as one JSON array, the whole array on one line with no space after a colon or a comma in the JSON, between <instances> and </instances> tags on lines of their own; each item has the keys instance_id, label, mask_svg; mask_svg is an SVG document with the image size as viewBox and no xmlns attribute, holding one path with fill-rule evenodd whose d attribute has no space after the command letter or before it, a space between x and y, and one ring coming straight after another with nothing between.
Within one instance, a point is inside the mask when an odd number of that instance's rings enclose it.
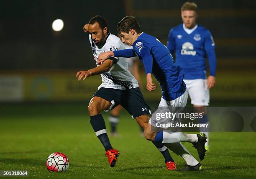
<instances>
[{"instance_id":1,"label":"white-shirted player's front leg, navy sock and red boot nearest the ball","mask_svg":"<svg viewBox=\"0 0 256 179\"><path fill-rule=\"evenodd\" d=\"M105 156L108 157L108 161L111 167L115 166L117 158L119 156L119 152L116 149L113 149L113 147L110 144L105 121L100 114L102 110L107 110L112 104L101 98L101 97L93 97L89 103L88 111L90 113L90 123L92 125L93 130L95 131L95 134L97 138L99 138L100 142L105 148Z\"/></svg>"}]
</instances>

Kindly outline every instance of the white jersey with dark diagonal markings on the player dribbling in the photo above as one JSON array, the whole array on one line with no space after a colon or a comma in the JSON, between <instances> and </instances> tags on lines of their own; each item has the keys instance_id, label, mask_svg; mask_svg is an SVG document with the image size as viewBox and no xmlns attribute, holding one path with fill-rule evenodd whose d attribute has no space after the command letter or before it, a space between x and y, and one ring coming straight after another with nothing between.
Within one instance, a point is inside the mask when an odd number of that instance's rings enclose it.
<instances>
[{"instance_id":1,"label":"white jersey with dark diagonal markings on the player dribbling","mask_svg":"<svg viewBox=\"0 0 256 179\"><path fill-rule=\"evenodd\" d=\"M100 53L125 49L123 42L120 41L120 38L111 34L110 32L108 32L106 42L103 46L101 46L101 48L99 48L94 41L92 41L91 35L89 35L89 40L92 46L92 54L97 66L99 66L97 59ZM110 59L113 59L114 64L110 68L110 71L100 74L102 84L99 86L99 89L101 87L105 87L125 90L138 87L138 81L128 70L127 60L121 57L110 57Z\"/></svg>"}]
</instances>

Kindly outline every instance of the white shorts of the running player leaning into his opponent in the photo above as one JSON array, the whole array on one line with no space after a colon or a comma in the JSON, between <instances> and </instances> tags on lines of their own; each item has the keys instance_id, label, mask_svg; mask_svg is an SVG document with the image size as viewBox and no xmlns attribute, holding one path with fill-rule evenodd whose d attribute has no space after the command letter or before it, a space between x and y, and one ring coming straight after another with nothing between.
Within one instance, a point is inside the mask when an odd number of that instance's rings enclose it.
<instances>
[{"instance_id":1,"label":"white shorts of the running player leaning into his opponent","mask_svg":"<svg viewBox=\"0 0 256 179\"><path fill-rule=\"evenodd\" d=\"M172 101L166 101L164 100L163 97L161 97L161 101L159 103L159 106L157 108L157 110L153 113L153 115L151 116L150 120L149 120L149 124L156 127L156 128L159 128L159 123L161 124L166 124L168 122L171 121L170 118L161 118L159 120L156 120L156 115L157 113L180 113L184 107L186 106L187 104L187 97L188 97L188 92L187 92L187 88L186 88L186 91L184 92L183 95L181 95L180 97L178 97L177 99L175 100L172 100ZM161 128L169 128L169 127L164 127L164 126L161 126Z\"/></svg>"}]
</instances>

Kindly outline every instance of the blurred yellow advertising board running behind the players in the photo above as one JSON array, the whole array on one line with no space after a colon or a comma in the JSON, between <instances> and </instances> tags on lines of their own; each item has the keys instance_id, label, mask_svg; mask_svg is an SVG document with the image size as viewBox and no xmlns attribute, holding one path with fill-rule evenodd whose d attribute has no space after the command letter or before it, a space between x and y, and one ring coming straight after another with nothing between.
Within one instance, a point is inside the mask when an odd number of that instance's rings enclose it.
<instances>
[{"instance_id":1,"label":"blurred yellow advertising board running behind the players","mask_svg":"<svg viewBox=\"0 0 256 179\"><path fill-rule=\"evenodd\" d=\"M21 101L71 101L90 100L94 92L101 84L101 77L92 76L86 80L77 81L76 72L26 72L15 73L20 79ZM218 72L215 87L210 90L211 100L256 100L256 80L254 72L225 73ZM5 83L8 83L4 74ZM3 77L3 74L0 74ZM12 75L9 75L12 77ZM0 78L1 79L1 78ZM159 101L161 89L159 83L154 80L156 90L148 92L144 74L142 80L142 93L147 101ZM1 83L1 80L0 80ZM8 91L8 89L5 89ZM20 94L18 91L15 92ZM12 94L12 93L10 93ZM6 93L5 93L6 95ZM12 97L9 97L12 99ZM0 94L1 99L1 94ZM7 96L2 99L8 99Z\"/></svg>"}]
</instances>

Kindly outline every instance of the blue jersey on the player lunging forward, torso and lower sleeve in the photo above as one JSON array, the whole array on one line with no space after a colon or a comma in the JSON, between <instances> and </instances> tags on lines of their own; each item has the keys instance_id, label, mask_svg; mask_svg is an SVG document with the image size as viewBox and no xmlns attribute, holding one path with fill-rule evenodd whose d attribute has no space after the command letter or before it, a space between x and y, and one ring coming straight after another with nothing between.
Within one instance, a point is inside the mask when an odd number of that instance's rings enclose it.
<instances>
[{"instance_id":1,"label":"blue jersey on the player lunging forward, torso and lower sleeve","mask_svg":"<svg viewBox=\"0 0 256 179\"><path fill-rule=\"evenodd\" d=\"M133 50L143 62L146 74L154 74L160 83L165 100L174 100L184 93L184 72L174 63L170 51L156 37L141 33L133 43Z\"/></svg>"}]
</instances>

